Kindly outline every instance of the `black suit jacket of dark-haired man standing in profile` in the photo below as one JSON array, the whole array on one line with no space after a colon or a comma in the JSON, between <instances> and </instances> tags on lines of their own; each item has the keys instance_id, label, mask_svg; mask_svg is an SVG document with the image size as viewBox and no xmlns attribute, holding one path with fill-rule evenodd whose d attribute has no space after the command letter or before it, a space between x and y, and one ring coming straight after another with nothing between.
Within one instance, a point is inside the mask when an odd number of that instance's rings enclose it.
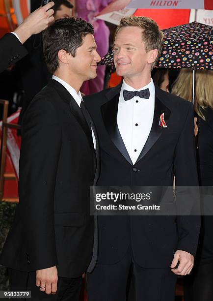
<instances>
[{"instance_id":1,"label":"black suit jacket of dark-haired man standing in profile","mask_svg":"<svg viewBox=\"0 0 213 301\"><path fill-rule=\"evenodd\" d=\"M74 106L72 106L74 104ZM0 263L20 271L57 266L78 277L92 258L94 216L89 186L97 179L97 149L70 93L51 79L23 120L19 205Z\"/></svg>"}]
</instances>

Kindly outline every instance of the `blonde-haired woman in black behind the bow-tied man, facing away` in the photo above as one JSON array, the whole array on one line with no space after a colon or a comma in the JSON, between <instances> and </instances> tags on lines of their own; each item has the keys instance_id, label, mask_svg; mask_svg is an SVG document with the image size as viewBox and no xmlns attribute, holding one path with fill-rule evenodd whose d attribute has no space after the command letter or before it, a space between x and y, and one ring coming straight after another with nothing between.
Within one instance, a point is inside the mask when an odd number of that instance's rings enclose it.
<instances>
[{"instance_id":1,"label":"blonde-haired woman in black behind the bow-tied man, facing away","mask_svg":"<svg viewBox=\"0 0 213 301\"><path fill-rule=\"evenodd\" d=\"M192 99L192 70L182 69L172 93ZM213 186L213 72L195 72L195 104L199 133L198 174L200 185ZM185 301L213 300L213 216L202 216L195 267L185 278Z\"/></svg>"}]
</instances>

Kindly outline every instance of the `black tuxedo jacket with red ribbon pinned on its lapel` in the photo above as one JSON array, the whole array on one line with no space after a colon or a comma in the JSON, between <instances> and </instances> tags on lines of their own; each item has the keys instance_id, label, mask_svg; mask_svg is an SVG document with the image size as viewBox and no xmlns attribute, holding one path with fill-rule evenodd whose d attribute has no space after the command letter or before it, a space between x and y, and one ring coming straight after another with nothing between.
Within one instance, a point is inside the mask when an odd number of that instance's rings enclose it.
<instances>
[{"instance_id":1,"label":"black tuxedo jacket with red ribbon pinned on its lapel","mask_svg":"<svg viewBox=\"0 0 213 301\"><path fill-rule=\"evenodd\" d=\"M117 125L121 85L85 96L96 125L101 154L97 185L198 185L193 106L155 87L155 111L147 142L133 165ZM164 113L166 128L160 127ZM186 200L187 202L187 200ZM98 216L98 262L113 264L132 245L134 260L145 268L166 268L177 249L196 253L198 216Z\"/></svg>"}]
</instances>

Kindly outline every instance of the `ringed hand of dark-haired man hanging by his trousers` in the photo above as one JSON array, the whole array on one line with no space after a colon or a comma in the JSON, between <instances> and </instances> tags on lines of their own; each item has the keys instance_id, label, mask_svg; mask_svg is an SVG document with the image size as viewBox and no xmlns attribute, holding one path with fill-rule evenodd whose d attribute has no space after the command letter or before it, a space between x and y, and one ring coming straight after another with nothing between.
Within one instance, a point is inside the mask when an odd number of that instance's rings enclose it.
<instances>
[{"instance_id":1,"label":"ringed hand of dark-haired man hanging by his trousers","mask_svg":"<svg viewBox=\"0 0 213 301\"><path fill-rule=\"evenodd\" d=\"M46 294L55 295L57 291L58 272L56 266L36 271L36 286Z\"/></svg>"}]
</instances>

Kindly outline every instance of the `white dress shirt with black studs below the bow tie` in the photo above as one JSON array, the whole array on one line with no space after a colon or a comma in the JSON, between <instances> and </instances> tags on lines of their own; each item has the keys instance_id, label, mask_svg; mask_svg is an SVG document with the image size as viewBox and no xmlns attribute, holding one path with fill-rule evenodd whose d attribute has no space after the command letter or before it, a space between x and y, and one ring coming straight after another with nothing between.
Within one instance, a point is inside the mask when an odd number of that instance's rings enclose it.
<instances>
[{"instance_id":1,"label":"white dress shirt with black studs below the bow tie","mask_svg":"<svg viewBox=\"0 0 213 301\"><path fill-rule=\"evenodd\" d=\"M132 99L125 101L123 90L135 91L136 89L127 85L124 80L120 91L117 115L118 129L133 164L137 161L147 141L153 123L155 110L155 86L153 80L151 79L148 85L137 91L147 88L150 91L149 99L134 96Z\"/></svg>"}]
</instances>

